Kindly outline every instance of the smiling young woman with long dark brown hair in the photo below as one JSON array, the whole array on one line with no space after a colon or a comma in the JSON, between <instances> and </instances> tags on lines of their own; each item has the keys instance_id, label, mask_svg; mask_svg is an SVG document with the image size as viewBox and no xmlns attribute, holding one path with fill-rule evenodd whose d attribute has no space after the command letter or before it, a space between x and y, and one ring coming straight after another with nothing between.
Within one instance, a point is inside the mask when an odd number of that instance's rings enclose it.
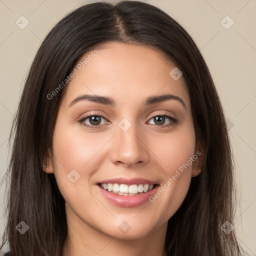
<instances>
[{"instance_id":1,"label":"smiling young woman with long dark brown hair","mask_svg":"<svg viewBox=\"0 0 256 256\"><path fill-rule=\"evenodd\" d=\"M95 2L60 20L11 134L11 255L241 255L219 97L157 7Z\"/></svg>"}]
</instances>

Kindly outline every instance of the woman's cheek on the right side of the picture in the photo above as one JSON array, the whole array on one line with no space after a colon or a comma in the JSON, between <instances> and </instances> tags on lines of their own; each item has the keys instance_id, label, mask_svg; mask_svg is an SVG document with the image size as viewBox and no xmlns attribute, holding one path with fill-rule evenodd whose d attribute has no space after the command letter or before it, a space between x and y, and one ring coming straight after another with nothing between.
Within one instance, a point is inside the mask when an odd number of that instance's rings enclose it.
<instances>
[{"instance_id":1,"label":"woman's cheek on the right side of the picture","mask_svg":"<svg viewBox=\"0 0 256 256\"><path fill-rule=\"evenodd\" d=\"M169 134L161 141L161 146L154 144L154 148L164 163L161 166L165 178L149 201L152 202L152 208L158 209L155 212L156 218L164 222L177 211L186 196L197 155L194 152L195 134L192 124L187 125L185 130Z\"/></svg>"}]
</instances>

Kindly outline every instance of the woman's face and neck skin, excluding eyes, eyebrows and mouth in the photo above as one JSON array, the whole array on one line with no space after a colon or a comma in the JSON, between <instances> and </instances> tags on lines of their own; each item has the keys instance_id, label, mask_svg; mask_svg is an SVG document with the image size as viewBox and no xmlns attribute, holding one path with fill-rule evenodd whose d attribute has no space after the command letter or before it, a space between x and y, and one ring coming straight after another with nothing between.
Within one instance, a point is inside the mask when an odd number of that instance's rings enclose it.
<instances>
[{"instance_id":1,"label":"woman's face and neck skin, excluding eyes, eyebrows and mouth","mask_svg":"<svg viewBox=\"0 0 256 256\"><path fill-rule=\"evenodd\" d=\"M97 49L95 57L64 88L53 133L53 155L49 154L45 168L54 173L65 199L68 234L62 256L162 256L167 221L203 162L186 84L183 76L174 80L169 75L175 64L151 46L108 42ZM69 106L87 93L112 97L116 106L88 100ZM186 108L175 99L144 105L146 97L164 93L180 97ZM94 129L79 122L92 112L103 116ZM152 118L163 114L178 123L165 118L159 125ZM131 124L125 132L117 125L123 118ZM93 126L89 118L84 122ZM161 127L169 123L172 125ZM96 185L114 177L142 177L161 186L197 150L201 155L154 202L120 207L107 201ZM67 179L72 169L80 175L74 183ZM118 229L122 221L131 227L127 233Z\"/></svg>"}]
</instances>

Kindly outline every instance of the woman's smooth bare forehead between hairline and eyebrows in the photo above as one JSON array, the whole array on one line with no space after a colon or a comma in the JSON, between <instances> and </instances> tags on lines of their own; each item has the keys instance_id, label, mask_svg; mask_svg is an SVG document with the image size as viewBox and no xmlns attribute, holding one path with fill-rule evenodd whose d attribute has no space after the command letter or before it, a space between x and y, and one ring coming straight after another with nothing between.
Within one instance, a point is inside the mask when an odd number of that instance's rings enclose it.
<instances>
[{"instance_id":1,"label":"woman's smooth bare forehead between hairline and eyebrows","mask_svg":"<svg viewBox=\"0 0 256 256\"><path fill-rule=\"evenodd\" d=\"M176 68L175 63L162 51L122 42L107 42L95 48L77 61L77 72L65 88L66 103L85 93L110 96L117 103L141 102L147 96L172 93L189 105L185 81L182 76L173 79L170 72Z\"/></svg>"}]
</instances>

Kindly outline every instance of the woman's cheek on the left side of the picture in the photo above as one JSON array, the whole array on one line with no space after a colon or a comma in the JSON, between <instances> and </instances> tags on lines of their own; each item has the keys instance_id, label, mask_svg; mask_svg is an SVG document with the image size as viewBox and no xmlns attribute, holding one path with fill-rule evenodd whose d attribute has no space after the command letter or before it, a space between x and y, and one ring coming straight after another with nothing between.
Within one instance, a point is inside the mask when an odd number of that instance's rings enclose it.
<instances>
[{"instance_id":1,"label":"woman's cheek on the left side of the picture","mask_svg":"<svg viewBox=\"0 0 256 256\"><path fill-rule=\"evenodd\" d=\"M102 208L97 200L93 200L88 181L99 168L96 159L100 157L100 148L107 140L99 139L92 133L85 136L83 132L63 127L58 122L53 135L54 175L68 207L77 215L82 212L88 217L90 212L95 213L95 209Z\"/></svg>"}]
</instances>

